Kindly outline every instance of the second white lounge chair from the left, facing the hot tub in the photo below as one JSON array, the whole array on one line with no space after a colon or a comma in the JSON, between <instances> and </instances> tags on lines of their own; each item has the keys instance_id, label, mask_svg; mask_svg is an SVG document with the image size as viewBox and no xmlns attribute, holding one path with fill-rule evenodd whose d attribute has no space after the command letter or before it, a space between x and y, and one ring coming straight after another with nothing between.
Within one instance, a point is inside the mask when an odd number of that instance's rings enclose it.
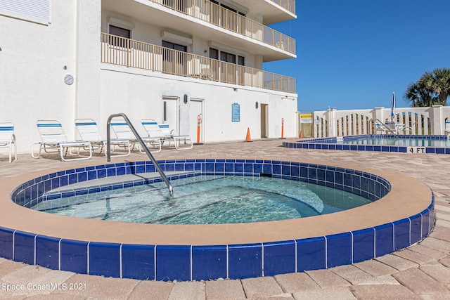
<instances>
[{"instance_id":1,"label":"second white lounge chair from the left, facing the hot tub","mask_svg":"<svg viewBox=\"0 0 450 300\"><path fill-rule=\"evenodd\" d=\"M41 150L45 152L59 152L61 160L67 162L70 160L90 159L92 157L92 146L89 141L68 141L65 131L60 122L56 120L38 120L37 130L41 136L41 142L31 144L31 157L41 157ZM39 145L39 152L34 153L34 145ZM72 153L72 149L76 149L76 153ZM78 157L79 150L89 151L89 156ZM67 155L75 155L74 158L66 158Z\"/></svg>"}]
</instances>

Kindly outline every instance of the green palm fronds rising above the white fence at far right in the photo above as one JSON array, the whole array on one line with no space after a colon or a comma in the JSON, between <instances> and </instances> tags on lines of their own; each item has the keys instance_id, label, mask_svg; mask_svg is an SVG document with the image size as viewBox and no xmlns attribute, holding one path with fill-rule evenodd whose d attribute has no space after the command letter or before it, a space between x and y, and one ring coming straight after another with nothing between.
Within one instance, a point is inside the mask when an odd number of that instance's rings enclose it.
<instances>
[{"instance_id":1,"label":"green palm fronds rising above the white fence at far right","mask_svg":"<svg viewBox=\"0 0 450 300\"><path fill-rule=\"evenodd\" d=\"M447 105L450 95L450 69L435 69L425 72L416 83L406 89L404 97L411 101L412 107Z\"/></svg>"}]
</instances>

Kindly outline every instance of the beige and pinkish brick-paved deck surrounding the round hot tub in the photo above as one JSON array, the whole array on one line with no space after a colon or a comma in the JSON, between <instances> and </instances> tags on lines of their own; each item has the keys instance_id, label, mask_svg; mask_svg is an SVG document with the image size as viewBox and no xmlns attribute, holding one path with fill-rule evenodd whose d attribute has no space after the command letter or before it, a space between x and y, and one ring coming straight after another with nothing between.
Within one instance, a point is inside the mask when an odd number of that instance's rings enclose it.
<instances>
[{"instance_id":1,"label":"beige and pinkish brick-paved deck surrounding the round hot tub","mask_svg":"<svg viewBox=\"0 0 450 300\"><path fill-rule=\"evenodd\" d=\"M328 270L244 280L158 282L103 278L50 270L0 258L0 299L450 299L450 157L433 154L291 149L283 141L195 145L192 150L163 149L156 159L300 159L328 165L369 167L411 176L435 193L436 226L429 237L408 249L371 261ZM124 160L147 160L137 151ZM56 168L104 164L105 157L60 162L57 155L32 159L18 155L8 163L1 152L0 180ZM112 162L120 162L113 158ZM1 221L0 221L1 225ZM58 284L59 289L50 285ZM76 284L76 285L74 285ZM22 290L6 288L24 287ZM70 289L79 287L79 289Z\"/></svg>"}]
</instances>

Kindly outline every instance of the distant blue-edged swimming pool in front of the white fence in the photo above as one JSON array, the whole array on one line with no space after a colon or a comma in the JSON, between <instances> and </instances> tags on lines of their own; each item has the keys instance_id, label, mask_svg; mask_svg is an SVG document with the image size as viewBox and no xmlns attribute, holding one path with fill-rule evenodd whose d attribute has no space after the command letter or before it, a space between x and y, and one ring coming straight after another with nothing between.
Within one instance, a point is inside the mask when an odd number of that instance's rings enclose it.
<instances>
[{"instance_id":1,"label":"distant blue-edged swimming pool in front of the white fence","mask_svg":"<svg viewBox=\"0 0 450 300\"><path fill-rule=\"evenodd\" d=\"M295 143L285 142L283 147L322 150L352 150L373 152L450 154L447 136L392 136L372 134L316 138Z\"/></svg>"}]
</instances>

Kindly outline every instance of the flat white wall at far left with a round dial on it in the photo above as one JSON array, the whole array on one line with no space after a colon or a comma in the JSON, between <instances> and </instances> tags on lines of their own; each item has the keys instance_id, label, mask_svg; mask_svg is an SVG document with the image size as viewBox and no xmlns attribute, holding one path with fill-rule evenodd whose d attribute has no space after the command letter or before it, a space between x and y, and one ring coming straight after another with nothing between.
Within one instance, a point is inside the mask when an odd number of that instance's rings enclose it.
<instances>
[{"instance_id":1,"label":"flat white wall at far left with a round dial on it","mask_svg":"<svg viewBox=\"0 0 450 300\"><path fill-rule=\"evenodd\" d=\"M0 15L0 121L15 124L20 152L40 140L37 119L74 117L76 87L63 77L76 68L76 3L51 1L48 25Z\"/></svg>"}]
</instances>

